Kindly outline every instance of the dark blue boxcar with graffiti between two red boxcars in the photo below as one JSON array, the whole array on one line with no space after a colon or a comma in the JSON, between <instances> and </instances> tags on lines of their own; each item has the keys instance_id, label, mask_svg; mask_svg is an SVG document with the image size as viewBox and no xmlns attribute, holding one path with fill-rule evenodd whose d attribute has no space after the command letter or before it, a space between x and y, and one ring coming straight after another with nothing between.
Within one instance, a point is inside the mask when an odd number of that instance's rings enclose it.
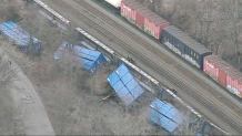
<instances>
[{"instance_id":1,"label":"dark blue boxcar with graffiti between two red boxcars","mask_svg":"<svg viewBox=\"0 0 242 136\"><path fill-rule=\"evenodd\" d=\"M160 42L201 70L203 57L212 54L209 49L174 25L167 27L162 30Z\"/></svg>"}]
</instances>

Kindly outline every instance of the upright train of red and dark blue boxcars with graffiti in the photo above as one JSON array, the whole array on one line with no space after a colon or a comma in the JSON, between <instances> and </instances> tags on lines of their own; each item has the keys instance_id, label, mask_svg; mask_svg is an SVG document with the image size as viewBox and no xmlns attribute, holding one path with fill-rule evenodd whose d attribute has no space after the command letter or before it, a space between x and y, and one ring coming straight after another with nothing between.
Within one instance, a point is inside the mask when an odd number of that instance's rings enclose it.
<instances>
[{"instance_id":1,"label":"upright train of red and dark blue boxcars with graffiti","mask_svg":"<svg viewBox=\"0 0 242 136\"><path fill-rule=\"evenodd\" d=\"M242 97L242 73L212 54L204 45L174 25L170 25L170 22L135 0L105 0L105 2L129 22L158 39L192 65L209 74L228 91Z\"/></svg>"}]
</instances>

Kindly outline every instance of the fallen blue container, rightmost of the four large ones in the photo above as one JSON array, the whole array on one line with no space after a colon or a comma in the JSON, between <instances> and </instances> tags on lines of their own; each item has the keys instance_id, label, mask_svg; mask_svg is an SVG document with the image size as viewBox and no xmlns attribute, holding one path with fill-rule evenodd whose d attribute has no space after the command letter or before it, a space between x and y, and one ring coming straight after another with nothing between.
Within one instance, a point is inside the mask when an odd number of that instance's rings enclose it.
<instances>
[{"instance_id":1,"label":"fallen blue container, rightmost of the four large ones","mask_svg":"<svg viewBox=\"0 0 242 136\"><path fill-rule=\"evenodd\" d=\"M158 98L150 103L148 116L169 133L172 133L183 121L183 115L175 107Z\"/></svg>"}]
</instances>

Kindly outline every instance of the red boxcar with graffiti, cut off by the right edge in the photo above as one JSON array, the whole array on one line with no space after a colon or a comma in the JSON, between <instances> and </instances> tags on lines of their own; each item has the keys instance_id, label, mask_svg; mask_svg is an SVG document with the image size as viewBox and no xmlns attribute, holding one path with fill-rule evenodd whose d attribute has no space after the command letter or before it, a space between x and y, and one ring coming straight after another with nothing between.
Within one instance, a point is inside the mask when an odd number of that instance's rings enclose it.
<instances>
[{"instance_id":1,"label":"red boxcar with graffiti, cut off by the right edge","mask_svg":"<svg viewBox=\"0 0 242 136\"><path fill-rule=\"evenodd\" d=\"M204 73L231 93L242 97L242 73L218 55L208 55L203 61Z\"/></svg>"}]
</instances>

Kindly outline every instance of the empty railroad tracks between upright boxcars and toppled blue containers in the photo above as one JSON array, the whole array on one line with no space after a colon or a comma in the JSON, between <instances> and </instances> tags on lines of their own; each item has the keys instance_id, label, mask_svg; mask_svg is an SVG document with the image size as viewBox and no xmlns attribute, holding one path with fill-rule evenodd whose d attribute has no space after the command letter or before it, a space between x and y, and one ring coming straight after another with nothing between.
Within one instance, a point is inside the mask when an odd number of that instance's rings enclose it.
<instances>
[{"instance_id":1,"label":"empty railroad tracks between upright boxcars and toppled blue containers","mask_svg":"<svg viewBox=\"0 0 242 136\"><path fill-rule=\"evenodd\" d=\"M163 61L165 61L169 64L174 65L174 67L179 67L178 71L182 71L183 74L185 74L185 76L189 76L190 79L193 79L194 82L196 84L199 84L201 87L203 87L204 90L209 91L210 94L214 95L214 96L219 96L220 101L222 103L224 103L225 105L228 105L229 107L233 108L233 109L240 109L240 111L235 111L238 113L238 115L241 115L241 108L238 107L236 105L233 105L232 102L230 102L228 98L223 97L221 94L219 94L212 86L209 86L206 83L204 83L203 81L196 79L190 71L185 70L184 67L182 67L180 64L175 63L175 61L173 61L172 59L168 57L164 53L155 50L153 46L151 46L148 42L145 42L144 40L140 39L135 33L129 31L128 29L125 29L124 27L120 25L119 23L117 23L115 21L113 21L112 19L108 18L105 14L101 13L100 11L98 11L97 9L94 9L93 7L91 7L90 4L88 4L84 1L78 1L74 0L77 3L79 3L81 7L83 7L84 9L87 9L89 12L92 12L93 14L98 14L102 20L104 20L107 23L109 23L110 25L117 28L119 31L121 31L124 34L128 34L131 39L133 39L137 43L139 43L140 45L142 45L143 48L145 48L149 51L152 51L153 53L155 53L155 55L158 55L159 57L161 57ZM122 45L123 48L125 48L127 50L129 50L131 53L133 53L134 55L137 55L138 57L140 57L143 62L145 62L148 65L152 66L153 69L155 69L158 72L162 73L164 76L167 76L168 79L172 80L173 82L175 82L175 84L178 84L180 87L182 87L184 91L186 91L188 93L190 93L193 97L195 97L198 101L200 101L202 104L204 104L206 107L209 107L211 111L213 111L216 115L219 115L221 118L223 118L224 121L226 121L230 125L232 125L235 129L238 129L238 132L242 133L242 121L238 117L232 117L231 115L228 115L223 109L221 109L220 107L218 107L213 102L206 100L200 92L195 91L193 88L193 86L186 85L185 83L183 83L180 79L178 79L177 76L174 76L172 73L170 73L169 71L167 71L165 69L163 69L162 66L160 66L159 64L157 64L155 62L153 62L150 57L141 55L141 53L137 53L139 52L137 49L134 49L133 46L129 45L129 43L127 43L124 40L120 39L119 36L117 36L115 34L111 33L110 31L105 30L102 25L100 25L99 23L97 23L95 21L93 21L92 19L90 19L90 17L88 17L85 13L81 12L80 10L78 10L77 8L74 8L73 6L69 4L67 1L56 1L52 0L52 2L54 2L56 4L64 8L64 9L72 9L69 10L69 12L73 13L73 15L75 15L77 18L81 19L82 21L84 21L85 23L88 23L90 27L95 28L98 31L100 31L101 33L103 33L104 35L107 35L108 38L112 38L114 42L117 42L119 45ZM149 60L149 61L145 61ZM164 71L164 72L161 72ZM164 73L169 73L164 74Z\"/></svg>"}]
</instances>

